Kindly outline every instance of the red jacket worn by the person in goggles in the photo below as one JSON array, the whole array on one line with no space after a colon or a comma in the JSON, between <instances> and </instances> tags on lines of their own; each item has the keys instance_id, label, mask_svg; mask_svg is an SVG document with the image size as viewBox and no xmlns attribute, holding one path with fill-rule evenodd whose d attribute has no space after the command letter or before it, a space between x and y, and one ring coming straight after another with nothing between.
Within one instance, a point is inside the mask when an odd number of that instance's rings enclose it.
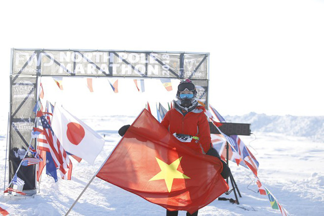
<instances>
[{"instance_id":1,"label":"red jacket worn by the person in goggles","mask_svg":"<svg viewBox=\"0 0 324 216\"><path fill-rule=\"evenodd\" d=\"M190 143L183 143L197 152L206 153L211 148L211 132L205 115L205 108L202 106L197 106L186 115L173 108L166 113L161 124L168 128L172 134L186 134L198 137L199 141L192 139Z\"/></svg>"}]
</instances>

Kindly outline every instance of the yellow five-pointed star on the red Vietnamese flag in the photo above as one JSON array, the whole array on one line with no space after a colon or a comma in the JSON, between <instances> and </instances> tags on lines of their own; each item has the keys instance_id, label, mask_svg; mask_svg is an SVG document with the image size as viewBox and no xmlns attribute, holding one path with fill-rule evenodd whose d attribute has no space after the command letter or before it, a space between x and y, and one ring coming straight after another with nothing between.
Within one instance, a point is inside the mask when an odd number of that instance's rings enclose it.
<instances>
[{"instance_id":1,"label":"yellow five-pointed star on the red Vietnamese flag","mask_svg":"<svg viewBox=\"0 0 324 216\"><path fill-rule=\"evenodd\" d=\"M155 157L155 158L156 158L156 161L157 161L161 171L158 172L158 174L156 174L149 181L164 179L166 181L167 188L170 193L174 179L190 179L189 177L187 177L186 175L184 175L183 173L181 173L180 171L177 170L178 166L180 165L180 161L181 161L182 157L176 159L171 164L167 164L164 161L158 159L157 157Z\"/></svg>"}]
</instances>

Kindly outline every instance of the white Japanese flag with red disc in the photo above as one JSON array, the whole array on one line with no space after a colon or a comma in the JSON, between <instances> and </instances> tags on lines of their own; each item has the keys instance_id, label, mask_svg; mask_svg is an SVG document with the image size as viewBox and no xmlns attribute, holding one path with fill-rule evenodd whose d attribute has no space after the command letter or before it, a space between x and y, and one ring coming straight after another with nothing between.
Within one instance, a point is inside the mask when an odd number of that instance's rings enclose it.
<instances>
[{"instance_id":1,"label":"white Japanese flag with red disc","mask_svg":"<svg viewBox=\"0 0 324 216\"><path fill-rule=\"evenodd\" d=\"M101 152L105 140L87 124L73 116L63 107L56 106L52 129L65 151L93 164Z\"/></svg>"}]
</instances>

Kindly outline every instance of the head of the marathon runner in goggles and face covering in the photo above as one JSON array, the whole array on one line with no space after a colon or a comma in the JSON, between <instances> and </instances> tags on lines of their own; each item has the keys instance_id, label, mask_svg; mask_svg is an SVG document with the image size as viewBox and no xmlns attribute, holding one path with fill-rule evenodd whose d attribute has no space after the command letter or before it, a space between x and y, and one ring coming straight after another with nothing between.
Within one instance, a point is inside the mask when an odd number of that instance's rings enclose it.
<instances>
[{"instance_id":1,"label":"head of the marathon runner in goggles and face covering","mask_svg":"<svg viewBox=\"0 0 324 216\"><path fill-rule=\"evenodd\" d=\"M196 87L190 79L182 80L178 85L178 91L176 98L183 107L190 107L196 100Z\"/></svg>"}]
</instances>

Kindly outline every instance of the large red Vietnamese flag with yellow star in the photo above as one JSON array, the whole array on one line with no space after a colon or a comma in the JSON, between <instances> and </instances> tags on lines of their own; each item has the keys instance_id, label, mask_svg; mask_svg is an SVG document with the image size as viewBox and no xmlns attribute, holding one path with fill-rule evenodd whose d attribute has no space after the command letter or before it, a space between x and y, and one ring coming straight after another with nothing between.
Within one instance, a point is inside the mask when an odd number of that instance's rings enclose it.
<instances>
[{"instance_id":1,"label":"large red Vietnamese flag with yellow star","mask_svg":"<svg viewBox=\"0 0 324 216\"><path fill-rule=\"evenodd\" d=\"M222 163L178 141L146 109L96 175L169 210L190 213L225 191Z\"/></svg>"}]
</instances>

